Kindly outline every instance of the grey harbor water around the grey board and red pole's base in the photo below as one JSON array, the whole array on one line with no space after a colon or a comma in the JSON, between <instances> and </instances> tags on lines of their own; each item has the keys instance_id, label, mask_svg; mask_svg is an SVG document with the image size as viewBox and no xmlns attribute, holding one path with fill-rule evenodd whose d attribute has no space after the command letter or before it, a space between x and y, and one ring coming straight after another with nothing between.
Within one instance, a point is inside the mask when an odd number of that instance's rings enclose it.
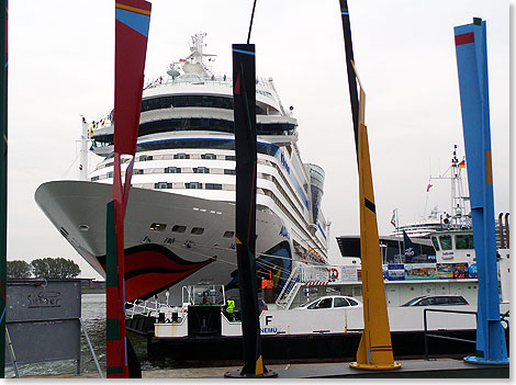
<instances>
[{"instance_id":1,"label":"grey harbor water around the grey board and red pole's base","mask_svg":"<svg viewBox=\"0 0 516 385\"><path fill-rule=\"evenodd\" d=\"M93 347L101 370L105 373L105 295L82 294L82 322ZM162 361L147 360L147 341L145 337L128 333L134 350L142 365L142 370L169 369L173 363L164 359ZM58 338L56 339L58 341ZM85 333L81 332L80 342L80 371L81 373L98 373L93 356L88 348ZM27 375L58 375L76 373L77 363L74 360L55 361L36 364L19 365L20 376ZM13 377L14 370L11 365L5 367L5 378Z\"/></svg>"}]
</instances>

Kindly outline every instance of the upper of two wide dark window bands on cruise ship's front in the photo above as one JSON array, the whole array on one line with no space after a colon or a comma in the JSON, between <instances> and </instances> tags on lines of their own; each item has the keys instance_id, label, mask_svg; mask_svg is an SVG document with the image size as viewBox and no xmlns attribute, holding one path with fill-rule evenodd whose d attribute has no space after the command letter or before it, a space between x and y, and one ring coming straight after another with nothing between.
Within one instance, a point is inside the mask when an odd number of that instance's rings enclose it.
<instances>
[{"instance_id":1,"label":"upper of two wide dark window bands on cruise ship's front","mask_svg":"<svg viewBox=\"0 0 516 385\"><path fill-rule=\"evenodd\" d=\"M233 98L216 95L172 95L145 99L142 101L142 112L186 106L233 110ZM262 107L257 105L256 114L265 115L266 112Z\"/></svg>"}]
</instances>

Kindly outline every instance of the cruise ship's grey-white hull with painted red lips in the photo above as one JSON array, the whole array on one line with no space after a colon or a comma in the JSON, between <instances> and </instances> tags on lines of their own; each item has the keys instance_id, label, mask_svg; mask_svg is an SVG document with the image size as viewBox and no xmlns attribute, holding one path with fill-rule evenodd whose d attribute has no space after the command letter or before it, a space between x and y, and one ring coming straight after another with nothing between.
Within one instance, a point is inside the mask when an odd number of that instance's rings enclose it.
<instances>
[{"instance_id":1,"label":"cruise ship's grey-white hull with painted red lips","mask_svg":"<svg viewBox=\"0 0 516 385\"><path fill-rule=\"evenodd\" d=\"M111 200L112 185L86 181L48 182L35 193L48 219L102 276ZM272 212L257 211L257 274L271 276L277 293L292 270L284 226ZM127 302L170 287L177 303L182 286L200 282L224 284L237 294L234 203L132 188L124 227Z\"/></svg>"}]
</instances>

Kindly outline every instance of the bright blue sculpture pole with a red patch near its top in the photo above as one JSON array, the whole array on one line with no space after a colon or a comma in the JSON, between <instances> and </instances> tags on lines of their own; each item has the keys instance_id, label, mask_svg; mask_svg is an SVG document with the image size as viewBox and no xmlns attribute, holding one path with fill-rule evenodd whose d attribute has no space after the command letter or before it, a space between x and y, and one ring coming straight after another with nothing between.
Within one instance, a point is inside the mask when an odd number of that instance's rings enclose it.
<instances>
[{"instance_id":1,"label":"bright blue sculpture pole with a red patch near its top","mask_svg":"<svg viewBox=\"0 0 516 385\"><path fill-rule=\"evenodd\" d=\"M455 27L473 239L479 271L476 353L464 361L508 364L500 321L485 21Z\"/></svg>"}]
</instances>

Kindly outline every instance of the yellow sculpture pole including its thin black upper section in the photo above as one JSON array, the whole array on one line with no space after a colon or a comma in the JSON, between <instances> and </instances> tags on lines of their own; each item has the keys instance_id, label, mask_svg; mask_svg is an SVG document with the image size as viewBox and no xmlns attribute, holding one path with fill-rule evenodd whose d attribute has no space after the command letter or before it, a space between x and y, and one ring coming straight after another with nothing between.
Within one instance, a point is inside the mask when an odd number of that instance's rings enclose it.
<instances>
[{"instance_id":1,"label":"yellow sculpture pole including its thin black upper section","mask_svg":"<svg viewBox=\"0 0 516 385\"><path fill-rule=\"evenodd\" d=\"M346 0L340 0L340 14L343 19L355 144L357 147L363 299L363 332L357 351L357 361L349 365L354 369L363 370L394 370L400 369L401 364L394 362L392 353L366 127L366 92L360 84L360 79L354 64L351 26ZM360 97L357 90L357 81L360 87Z\"/></svg>"}]
</instances>

